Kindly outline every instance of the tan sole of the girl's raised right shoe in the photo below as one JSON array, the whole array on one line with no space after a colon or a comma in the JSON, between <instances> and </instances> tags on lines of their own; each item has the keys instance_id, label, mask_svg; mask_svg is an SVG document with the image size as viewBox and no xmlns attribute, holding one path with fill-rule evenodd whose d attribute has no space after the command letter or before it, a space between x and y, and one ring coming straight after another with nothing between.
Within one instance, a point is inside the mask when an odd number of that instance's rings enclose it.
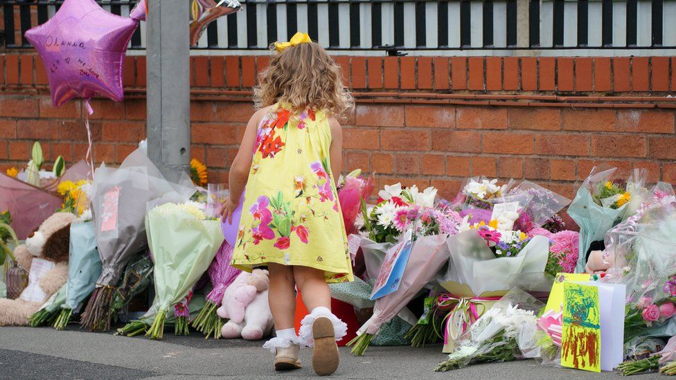
<instances>
[{"instance_id":1,"label":"tan sole of the girl's raised right shoe","mask_svg":"<svg viewBox=\"0 0 676 380\"><path fill-rule=\"evenodd\" d=\"M333 323L326 317L320 317L312 323L314 351L312 352L312 368L319 376L328 376L336 372L339 364L338 345L333 330Z\"/></svg>"}]
</instances>

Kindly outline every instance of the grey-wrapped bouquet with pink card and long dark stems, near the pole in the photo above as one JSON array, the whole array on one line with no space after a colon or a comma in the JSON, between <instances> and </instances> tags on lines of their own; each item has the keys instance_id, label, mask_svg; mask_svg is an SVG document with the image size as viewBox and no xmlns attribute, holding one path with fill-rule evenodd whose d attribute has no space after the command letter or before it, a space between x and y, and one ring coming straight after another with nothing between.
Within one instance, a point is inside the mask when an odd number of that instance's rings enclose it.
<instances>
[{"instance_id":1,"label":"grey-wrapped bouquet with pink card and long dark stems, near the pole","mask_svg":"<svg viewBox=\"0 0 676 380\"><path fill-rule=\"evenodd\" d=\"M98 253L103 263L96 289L82 313L82 325L91 331L106 331L115 284L132 255L145 249L145 212L154 199L182 202L195 187L189 179L177 185L167 181L143 150L132 152L120 168L102 166L94 174L91 208Z\"/></svg>"}]
</instances>

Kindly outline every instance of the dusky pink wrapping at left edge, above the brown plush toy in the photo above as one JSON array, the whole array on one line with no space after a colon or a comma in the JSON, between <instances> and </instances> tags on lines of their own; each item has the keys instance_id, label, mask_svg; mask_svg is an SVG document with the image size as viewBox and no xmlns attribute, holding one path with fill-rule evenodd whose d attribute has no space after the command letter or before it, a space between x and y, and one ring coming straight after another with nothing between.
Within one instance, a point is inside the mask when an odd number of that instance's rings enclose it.
<instances>
[{"instance_id":1,"label":"dusky pink wrapping at left edge, above the brown plush toy","mask_svg":"<svg viewBox=\"0 0 676 380\"><path fill-rule=\"evenodd\" d=\"M0 173L0 211L9 210L19 240L26 239L61 204L58 194Z\"/></svg>"}]
</instances>

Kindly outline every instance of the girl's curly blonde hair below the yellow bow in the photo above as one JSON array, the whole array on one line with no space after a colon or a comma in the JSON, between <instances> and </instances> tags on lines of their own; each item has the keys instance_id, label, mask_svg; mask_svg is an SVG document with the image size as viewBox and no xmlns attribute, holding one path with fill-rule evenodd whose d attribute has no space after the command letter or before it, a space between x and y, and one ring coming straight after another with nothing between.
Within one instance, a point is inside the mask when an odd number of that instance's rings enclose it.
<instances>
[{"instance_id":1,"label":"girl's curly blonde hair below the yellow bow","mask_svg":"<svg viewBox=\"0 0 676 380\"><path fill-rule=\"evenodd\" d=\"M259 109L281 102L289 103L294 114L309 108L326 111L335 118L355 107L339 66L315 42L290 46L272 57L267 69L258 75L253 101Z\"/></svg>"}]
</instances>

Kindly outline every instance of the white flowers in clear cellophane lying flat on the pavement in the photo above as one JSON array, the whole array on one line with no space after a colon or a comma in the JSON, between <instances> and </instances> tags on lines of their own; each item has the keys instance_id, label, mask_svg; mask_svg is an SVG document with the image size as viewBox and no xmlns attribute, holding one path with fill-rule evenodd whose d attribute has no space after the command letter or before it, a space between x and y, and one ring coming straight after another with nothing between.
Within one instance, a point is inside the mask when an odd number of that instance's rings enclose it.
<instances>
[{"instance_id":1,"label":"white flowers in clear cellophane lying flat on the pavement","mask_svg":"<svg viewBox=\"0 0 676 380\"><path fill-rule=\"evenodd\" d=\"M542 307L533 296L513 289L465 331L456 350L436 370L526 358L552 361L557 348L537 328L537 313Z\"/></svg>"}]
</instances>

